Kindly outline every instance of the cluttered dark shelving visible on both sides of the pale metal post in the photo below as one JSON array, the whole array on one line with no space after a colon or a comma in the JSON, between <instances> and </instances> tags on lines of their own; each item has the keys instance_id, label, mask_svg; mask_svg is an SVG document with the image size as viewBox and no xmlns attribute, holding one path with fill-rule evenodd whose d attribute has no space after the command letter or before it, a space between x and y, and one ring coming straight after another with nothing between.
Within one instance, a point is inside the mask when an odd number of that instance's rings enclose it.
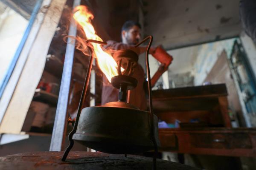
<instances>
[{"instance_id":1,"label":"cluttered dark shelving visible on both sides of the pale metal post","mask_svg":"<svg viewBox=\"0 0 256 170\"><path fill-rule=\"evenodd\" d=\"M76 55L71 74L70 93L79 93L82 89L87 70L87 58ZM35 89L32 102L23 124L23 131L36 133L52 133L58 95L64 63L60 56L47 55L47 62L41 80ZM70 102L76 101L70 97ZM69 103L70 103L69 102ZM76 107L76 105L74 105ZM70 106L68 106L70 107ZM73 108L75 108L73 107ZM69 111L73 111L69 108ZM76 109L76 108L75 108Z\"/></svg>"}]
</instances>

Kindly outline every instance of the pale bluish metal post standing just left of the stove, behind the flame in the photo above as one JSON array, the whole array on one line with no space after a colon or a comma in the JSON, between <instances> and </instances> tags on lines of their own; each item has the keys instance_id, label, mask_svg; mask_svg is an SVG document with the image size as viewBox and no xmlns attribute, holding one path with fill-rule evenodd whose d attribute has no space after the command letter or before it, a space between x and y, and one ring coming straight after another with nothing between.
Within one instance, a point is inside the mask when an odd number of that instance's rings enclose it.
<instances>
[{"instance_id":1,"label":"pale bluish metal post standing just left of the stove, behind the flame","mask_svg":"<svg viewBox=\"0 0 256 170\"><path fill-rule=\"evenodd\" d=\"M74 0L73 8L79 6L81 0ZM69 37L67 39L67 48L65 54L65 61L63 66L63 73L61 78L61 87L58 96L58 104L56 109L55 121L52 130L52 139L50 144L50 151L61 151L64 145L64 138L66 136L65 127L67 119L67 104L70 91L70 80L72 74L72 66L74 60L75 42L71 37L76 37L76 22L72 18L69 28Z\"/></svg>"}]
</instances>

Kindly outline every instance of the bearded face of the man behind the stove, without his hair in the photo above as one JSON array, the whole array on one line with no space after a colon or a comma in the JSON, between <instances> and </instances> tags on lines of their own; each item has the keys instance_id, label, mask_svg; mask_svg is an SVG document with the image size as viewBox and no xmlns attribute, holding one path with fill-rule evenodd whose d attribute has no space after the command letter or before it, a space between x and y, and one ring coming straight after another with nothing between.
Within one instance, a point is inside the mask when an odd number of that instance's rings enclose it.
<instances>
[{"instance_id":1,"label":"bearded face of the man behind the stove, without his hair","mask_svg":"<svg viewBox=\"0 0 256 170\"><path fill-rule=\"evenodd\" d=\"M123 31L122 38L126 44L136 45L140 41L140 28L132 26L128 31Z\"/></svg>"}]
</instances>

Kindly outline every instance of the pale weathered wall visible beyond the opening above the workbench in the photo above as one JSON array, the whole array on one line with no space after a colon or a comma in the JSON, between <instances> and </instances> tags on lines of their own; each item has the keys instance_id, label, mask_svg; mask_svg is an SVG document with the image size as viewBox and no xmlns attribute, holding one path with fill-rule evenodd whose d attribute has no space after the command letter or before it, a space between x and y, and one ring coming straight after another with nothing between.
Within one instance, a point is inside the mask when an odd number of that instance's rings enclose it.
<instances>
[{"instance_id":1,"label":"pale weathered wall visible beyond the opening above the workbench","mask_svg":"<svg viewBox=\"0 0 256 170\"><path fill-rule=\"evenodd\" d=\"M202 85L221 51L225 49L230 56L234 40L169 50L168 53L174 58L168 69L170 88Z\"/></svg>"}]
</instances>

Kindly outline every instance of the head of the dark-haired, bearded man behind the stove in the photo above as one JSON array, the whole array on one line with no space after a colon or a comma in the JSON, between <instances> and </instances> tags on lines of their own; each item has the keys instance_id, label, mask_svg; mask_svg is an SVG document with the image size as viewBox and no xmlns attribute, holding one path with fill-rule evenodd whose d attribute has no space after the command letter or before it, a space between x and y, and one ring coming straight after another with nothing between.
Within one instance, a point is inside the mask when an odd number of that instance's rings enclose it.
<instances>
[{"instance_id":1,"label":"head of the dark-haired, bearded man behind the stove","mask_svg":"<svg viewBox=\"0 0 256 170\"><path fill-rule=\"evenodd\" d=\"M122 26L122 43L136 45L140 41L140 23L135 21L126 21Z\"/></svg>"}]
</instances>

